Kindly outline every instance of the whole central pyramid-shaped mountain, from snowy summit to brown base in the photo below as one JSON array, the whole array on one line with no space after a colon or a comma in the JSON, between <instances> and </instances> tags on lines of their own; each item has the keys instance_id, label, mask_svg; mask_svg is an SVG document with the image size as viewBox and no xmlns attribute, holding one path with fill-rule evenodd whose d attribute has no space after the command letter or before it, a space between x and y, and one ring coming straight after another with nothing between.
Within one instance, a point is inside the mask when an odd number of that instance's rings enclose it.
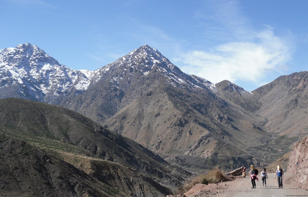
<instances>
[{"instance_id":1,"label":"whole central pyramid-shaped mountain, from snowy summit to brown base","mask_svg":"<svg viewBox=\"0 0 308 197\"><path fill-rule=\"evenodd\" d=\"M214 84L183 73L147 45L95 73L83 94L61 105L156 152L234 154L244 141L254 146L262 143L256 137L267 135L221 99Z\"/></svg>"}]
</instances>

